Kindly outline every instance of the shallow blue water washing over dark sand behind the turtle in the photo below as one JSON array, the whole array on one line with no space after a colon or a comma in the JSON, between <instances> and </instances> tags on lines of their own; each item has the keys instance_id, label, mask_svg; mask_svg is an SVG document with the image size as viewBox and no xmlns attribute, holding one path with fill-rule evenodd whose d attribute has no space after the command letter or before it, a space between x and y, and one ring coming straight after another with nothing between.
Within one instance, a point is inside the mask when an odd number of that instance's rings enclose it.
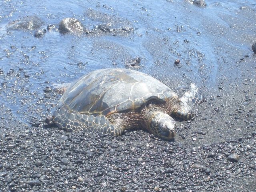
<instances>
[{"instance_id":1,"label":"shallow blue water washing over dark sand behind the turtle","mask_svg":"<svg viewBox=\"0 0 256 192\"><path fill-rule=\"evenodd\" d=\"M124 68L137 56L142 59L140 71L171 88L194 82L206 92L218 89L220 71L225 72L224 78L240 78L241 66L233 63L254 56L256 5L254 0L206 3L198 7L183 0L1 1L0 105L26 119L24 112L35 105L46 110L40 100L51 83L70 82L96 69ZM89 29L122 22L133 26L134 32L76 36L47 31L43 38L35 38L34 31L6 30L8 22L31 15L44 21L42 28L74 17ZM179 66L175 59L180 59Z\"/></svg>"}]
</instances>

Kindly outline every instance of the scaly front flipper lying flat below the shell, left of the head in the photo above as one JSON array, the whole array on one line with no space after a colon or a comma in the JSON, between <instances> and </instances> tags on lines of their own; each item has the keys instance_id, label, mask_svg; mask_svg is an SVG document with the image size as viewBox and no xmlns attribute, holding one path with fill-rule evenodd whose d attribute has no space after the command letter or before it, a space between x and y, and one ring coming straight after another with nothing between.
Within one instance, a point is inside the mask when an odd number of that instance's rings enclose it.
<instances>
[{"instance_id":1,"label":"scaly front flipper lying flat below the shell, left of the head","mask_svg":"<svg viewBox=\"0 0 256 192\"><path fill-rule=\"evenodd\" d=\"M95 133L111 134L119 136L123 130L110 123L104 115L84 115L76 112L68 112L64 108L56 110L53 119L58 128L68 132L89 131Z\"/></svg>"}]
</instances>

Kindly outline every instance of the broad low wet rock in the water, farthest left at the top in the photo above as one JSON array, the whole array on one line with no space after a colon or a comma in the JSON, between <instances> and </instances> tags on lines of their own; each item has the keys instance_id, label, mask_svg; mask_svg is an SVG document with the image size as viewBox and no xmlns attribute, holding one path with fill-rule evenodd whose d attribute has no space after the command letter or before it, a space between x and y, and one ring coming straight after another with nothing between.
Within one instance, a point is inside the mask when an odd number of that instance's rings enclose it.
<instances>
[{"instance_id":1,"label":"broad low wet rock in the water, farthest left at the top","mask_svg":"<svg viewBox=\"0 0 256 192\"><path fill-rule=\"evenodd\" d=\"M43 24L43 21L38 16L27 16L20 20L14 20L7 25L7 29L13 30L36 30Z\"/></svg>"}]
</instances>

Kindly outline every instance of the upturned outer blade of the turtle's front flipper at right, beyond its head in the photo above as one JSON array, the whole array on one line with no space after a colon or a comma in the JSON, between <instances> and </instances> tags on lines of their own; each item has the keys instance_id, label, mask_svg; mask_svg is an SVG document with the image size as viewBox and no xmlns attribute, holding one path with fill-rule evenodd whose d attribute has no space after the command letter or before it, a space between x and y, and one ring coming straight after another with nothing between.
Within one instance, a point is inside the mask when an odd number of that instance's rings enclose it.
<instances>
[{"instance_id":1,"label":"upturned outer blade of the turtle's front flipper at right, beyond its head","mask_svg":"<svg viewBox=\"0 0 256 192\"><path fill-rule=\"evenodd\" d=\"M190 90L180 98L180 101L194 110L195 106L203 102L203 98L204 95L202 90L198 89L195 84L191 83Z\"/></svg>"}]
</instances>

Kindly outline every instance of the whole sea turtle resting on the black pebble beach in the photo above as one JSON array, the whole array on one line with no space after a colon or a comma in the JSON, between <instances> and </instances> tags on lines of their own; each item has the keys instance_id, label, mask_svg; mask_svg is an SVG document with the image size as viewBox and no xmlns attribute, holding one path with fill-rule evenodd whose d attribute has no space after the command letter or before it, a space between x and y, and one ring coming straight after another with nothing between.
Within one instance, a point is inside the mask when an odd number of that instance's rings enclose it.
<instances>
[{"instance_id":1,"label":"whole sea turtle resting on the black pebble beach","mask_svg":"<svg viewBox=\"0 0 256 192\"><path fill-rule=\"evenodd\" d=\"M53 114L58 128L119 136L129 128L145 128L164 139L174 138L172 116L189 120L203 94L194 84L182 98L168 86L139 71L122 68L90 72L68 84L54 84L64 93Z\"/></svg>"}]
</instances>

